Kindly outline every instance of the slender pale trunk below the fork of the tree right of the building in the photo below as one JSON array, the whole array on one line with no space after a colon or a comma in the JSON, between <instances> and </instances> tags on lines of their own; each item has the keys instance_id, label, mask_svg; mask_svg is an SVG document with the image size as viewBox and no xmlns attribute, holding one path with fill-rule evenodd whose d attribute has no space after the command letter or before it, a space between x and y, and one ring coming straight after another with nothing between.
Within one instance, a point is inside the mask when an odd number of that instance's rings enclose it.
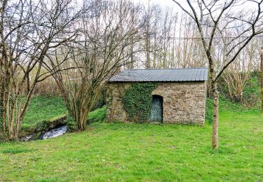
<instances>
[{"instance_id":1,"label":"slender pale trunk below the fork of the tree right of the building","mask_svg":"<svg viewBox=\"0 0 263 182\"><path fill-rule=\"evenodd\" d=\"M217 83L212 82L212 89L213 89L213 100L214 100L214 107L213 107L213 139L212 139L212 148L217 150L218 149L218 118L219 118L219 93L217 91Z\"/></svg>"}]
</instances>

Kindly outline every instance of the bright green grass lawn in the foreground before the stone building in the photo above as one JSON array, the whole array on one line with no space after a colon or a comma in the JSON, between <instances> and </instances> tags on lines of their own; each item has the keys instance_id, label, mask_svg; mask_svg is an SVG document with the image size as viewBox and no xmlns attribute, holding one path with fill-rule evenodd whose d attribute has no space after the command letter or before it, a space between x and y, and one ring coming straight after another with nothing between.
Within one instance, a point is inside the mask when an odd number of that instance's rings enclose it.
<instances>
[{"instance_id":1,"label":"bright green grass lawn in the foreground before the stone building","mask_svg":"<svg viewBox=\"0 0 263 182\"><path fill-rule=\"evenodd\" d=\"M0 144L0 181L263 181L259 111L220 111L212 125L93 123L55 139Z\"/></svg>"}]
</instances>

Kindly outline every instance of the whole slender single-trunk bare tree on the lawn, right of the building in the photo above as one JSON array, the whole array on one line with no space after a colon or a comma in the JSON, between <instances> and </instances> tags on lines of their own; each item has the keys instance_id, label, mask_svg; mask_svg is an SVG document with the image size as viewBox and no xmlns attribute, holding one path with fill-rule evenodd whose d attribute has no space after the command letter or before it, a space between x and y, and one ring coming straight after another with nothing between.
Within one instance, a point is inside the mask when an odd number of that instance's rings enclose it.
<instances>
[{"instance_id":1,"label":"whole slender single-trunk bare tree on the lawn, right of the building","mask_svg":"<svg viewBox=\"0 0 263 182\"><path fill-rule=\"evenodd\" d=\"M219 146L219 92L217 91L217 80L229 64L234 62L241 50L245 48L245 45L254 36L262 33L262 1L187 0L187 7L182 6L179 0L173 1L196 22L205 55L208 59L214 101L212 148L217 149ZM252 8L241 8L248 5ZM241 10L238 10L238 8ZM207 34L203 30L203 25L210 27ZM239 27L241 31L234 32L233 30L236 27ZM229 30L232 30L233 34L226 37L226 31ZM215 44L217 37L221 40L220 44ZM221 45L223 49L218 63L212 54L212 50L216 45Z\"/></svg>"}]
</instances>

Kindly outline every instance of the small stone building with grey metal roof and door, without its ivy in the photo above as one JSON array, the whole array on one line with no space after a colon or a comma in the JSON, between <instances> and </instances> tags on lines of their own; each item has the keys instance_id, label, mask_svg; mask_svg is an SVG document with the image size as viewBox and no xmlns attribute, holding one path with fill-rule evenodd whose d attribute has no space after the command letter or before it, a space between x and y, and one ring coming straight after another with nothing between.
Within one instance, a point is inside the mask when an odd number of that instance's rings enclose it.
<instances>
[{"instance_id":1,"label":"small stone building with grey metal roof and door, without its ivy","mask_svg":"<svg viewBox=\"0 0 263 182\"><path fill-rule=\"evenodd\" d=\"M133 83L157 83L151 92L149 123L203 125L207 68L133 69L116 74L107 83L107 121L128 120L123 93Z\"/></svg>"}]
</instances>

